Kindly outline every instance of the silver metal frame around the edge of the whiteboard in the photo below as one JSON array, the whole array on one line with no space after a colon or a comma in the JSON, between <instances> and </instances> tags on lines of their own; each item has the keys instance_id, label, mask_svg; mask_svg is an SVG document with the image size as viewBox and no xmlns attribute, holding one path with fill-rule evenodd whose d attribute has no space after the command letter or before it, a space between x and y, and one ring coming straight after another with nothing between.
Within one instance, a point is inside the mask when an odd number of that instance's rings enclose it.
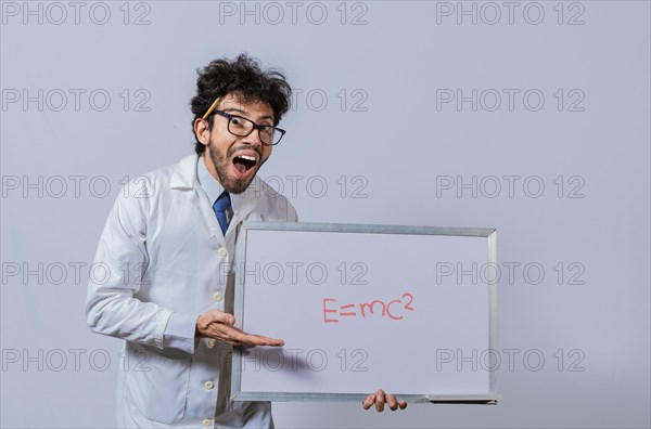
<instances>
[{"instance_id":1,"label":"silver metal frame around the edge of the whiteboard","mask_svg":"<svg viewBox=\"0 0 651 429\"><path fill-rule=\"evenodd\" d=\"M413 226L381 225L357 223L311 223L311 222L261 222L243 221L238 224L235 239L235 263L246 262L247 232L265 231L299 231L333 232L365 234L404 234L404 235L451 235L463 237L486 237L488 239L488 263L497 265L497 230L494 227L448 227L448 226ZM235 272L234 316L235 327L242 328L244 317L243 270ZM497 278L488 283L488 348L497 350ZM286 401L286 402L362 402L371 392L366 393L296 393L296 392L243 392L242 386L242 349L233 347L231 368L232 401ZM381 380L379 380L381 381ZM497 393L497 370L490 370L489 392L486 394L400 394L400 401L412 403L457 403L457 404L492 404L501 399Z\"/></svg>"}]
</instances>

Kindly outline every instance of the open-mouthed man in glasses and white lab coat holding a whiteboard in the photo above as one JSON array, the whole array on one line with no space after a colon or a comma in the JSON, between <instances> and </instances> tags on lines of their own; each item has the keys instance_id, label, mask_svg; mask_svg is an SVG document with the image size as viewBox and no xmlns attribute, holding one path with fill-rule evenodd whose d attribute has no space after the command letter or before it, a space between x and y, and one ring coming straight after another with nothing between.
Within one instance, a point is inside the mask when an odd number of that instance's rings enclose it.
<instances>
[{"instance_id":1,"label":"open-mouthed man in glasses and white lab coat holding a whiteboard","mask_svg":"<svg viewBox=\"0 0 651 429\"><path fill-rule=\"evenodd\" d=\"M117 198L100 238L87 321L125 339L117 389L123 427L272 427L268 402L231 402L233 344L281 347L243 333L232 316L235 226L296 221L294 207L256 173L284 131L291 87L246 55L199 72L191 101L195 152L144 174ZM264 192L261 192L265 190ZM133 275L136 273L137 275ZM365 408L404 408L383 391Z\"/></svg>"}]
</instances>

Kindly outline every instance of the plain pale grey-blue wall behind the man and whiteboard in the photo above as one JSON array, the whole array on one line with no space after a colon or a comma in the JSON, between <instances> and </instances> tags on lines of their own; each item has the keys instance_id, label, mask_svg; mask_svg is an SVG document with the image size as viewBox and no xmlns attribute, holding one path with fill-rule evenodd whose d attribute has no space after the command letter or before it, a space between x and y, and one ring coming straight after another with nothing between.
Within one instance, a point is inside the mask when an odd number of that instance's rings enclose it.
<instances>
[{"instance_id":1,"label":"plain pale grey-blue wall behind the man and whiteboard","mask_svg":"<svg viewBox=\"0 0 651 429\"><path fill-rule=\"evenodd\" d=\"M278 403L279 427L649 427L650 5L512 4L2 2L1 425L113 425L99 234L125 177L192 153L195 68L247 51L298 90L260 176L303 221L498 229L514 358L497 406Z\"/></svg>"}]
</instances>

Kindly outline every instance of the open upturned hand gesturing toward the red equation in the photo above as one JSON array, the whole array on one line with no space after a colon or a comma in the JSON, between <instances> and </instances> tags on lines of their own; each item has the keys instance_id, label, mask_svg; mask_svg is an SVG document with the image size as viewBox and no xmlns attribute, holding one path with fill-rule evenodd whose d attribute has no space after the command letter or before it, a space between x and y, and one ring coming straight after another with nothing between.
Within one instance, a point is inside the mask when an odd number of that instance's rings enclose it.
<instances>
[{"instance_id":1,"label":"open upturned hand gesturing toward the red equation","mask_svg":"<svg viewBox=\"0 0 651 429\"><path fill-rule=\"evenodd\" d=\"M282 347L281 339L269 338L256 334L246 334L234 327L235 317L221 310L210 310L196 318L196 334L201 337L216 338L233 346L273 346Z\"/></svg>"}]
</instances>

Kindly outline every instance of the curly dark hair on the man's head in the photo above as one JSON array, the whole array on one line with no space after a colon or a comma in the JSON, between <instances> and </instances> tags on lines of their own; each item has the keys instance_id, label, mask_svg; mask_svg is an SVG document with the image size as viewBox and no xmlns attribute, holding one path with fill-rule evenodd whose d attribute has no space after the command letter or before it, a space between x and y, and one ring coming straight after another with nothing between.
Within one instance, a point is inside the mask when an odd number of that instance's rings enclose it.
<instances>
[{"instance_id":1,"label":"curly dark hair on the man's head","mask_svg":"<svg viewBox=\"0 0 651 429\"><path fill-rule=\"evenodd\" d=\"M260 61L247 54L240 54L235 60L214 60L202 69L196 69L196 95L190 101L194 121L203 117L217 98L237 94L244 102L261 101L268 103L273 110L273 126L280 122L282 116L291 106L292 87L285 76L277 69L263 69ZM208 117L208 126L213 118ZM196 140L196 135L194 135ZM201 155L206 146L196 140L194 151Z\"/></svg>"}]
</instances>

